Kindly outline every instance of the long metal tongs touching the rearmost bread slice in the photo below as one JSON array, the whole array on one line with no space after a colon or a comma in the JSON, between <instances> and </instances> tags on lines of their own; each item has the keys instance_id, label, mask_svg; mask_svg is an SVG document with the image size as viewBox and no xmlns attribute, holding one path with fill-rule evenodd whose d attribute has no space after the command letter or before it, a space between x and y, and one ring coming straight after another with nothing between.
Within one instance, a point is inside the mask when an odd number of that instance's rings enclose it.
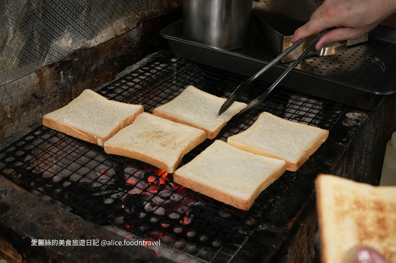
<instances>
[{"instance_id":1,"label":"long metal tongs touching the rearmost bread slice","mask_svg":"<svg viewBox=\"0 0 396 263\"><path fill-rule=\"evenodd\" d=\"M268 88L268 90L263 95L257 97L255 100L253 100L251 103L249 103L249 105L244 107L241 111L238 111L227 123L236 122L240 118L247 115L247 113L249 113L249 112L253 111L255 108L259 107L261 105L261 103L263 103L265 98L267 98L268 94L270 94L270 92L280 83L280 81L282 81L282 79L284 79L284 77L286 77L286 75L289 74L289 72L292 71L295 68L295 66L297 66L297 64L299 64L300 61L303 58L305 58L307 56L307 54L315 47L316 43L318 43L318 41L322 38L322 36L324 36L324 34L326 34L327 32L329 32L332 29L333 28L327 28L326 30L323 30L322 33L320 33L320 35L307 47L307 49L305 49L305 51L293 62L293 64L291 64L291 66L289 66L289 68L287 68L287 70L279 77L279 79L277 79L274 82L274 84L272 84L272 86L270 86L270 88ZM268 63L267 66L262 68L253 77L251 77L247 81L242 82L238 86L238 88L236 88L236 90L234 90L234 92L232 92L232 94L223 103L223 105L221 105L218 115L221 115L223 112L225 112L231 106L231 104L234 103L234 101L240 96L240 94L242 94L243 92L245 92L247 90L247 87L253 80L255 80L257 77L259 77L261 74L263 74L269 68L271 68L275 63L280 61L284 56L289 54L291 51L293 51L296 47L301 45L301 43L303 43L306 40L307 40L307 38L300 39L297 43L294 43L291 47L286 49L286 51L284 51L282 54L280 54L274 60L272 60L270 63Z\"/></svg>"}]
</instances>

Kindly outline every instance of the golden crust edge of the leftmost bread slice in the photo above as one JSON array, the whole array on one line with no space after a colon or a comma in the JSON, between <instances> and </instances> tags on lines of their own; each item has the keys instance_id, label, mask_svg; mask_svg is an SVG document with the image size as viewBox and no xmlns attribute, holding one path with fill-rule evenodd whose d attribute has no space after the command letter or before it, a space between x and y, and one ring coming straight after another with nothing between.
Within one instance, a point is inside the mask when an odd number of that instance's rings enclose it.
<instances>
[{"instance_id":1,"label":"golden crust edge of the leftmost bread slice","mask_svg":"<svg viewBox=\"0 0 396 263\"><path fill-rule=\"evenodd\" d=\"M84 131L84 130L78 129L76 127L64 124L62 122L58 122L57 120L47 118L46 117L47 114L43 116L43 125L51 128L53 130L66 133L67 135L70 135L70 136L76 137L78 139L82 139L84 141L88 141L89 143L94 143L94 144L97 144L97 145L103 147L103 143L105 141L107 141L108 139L113 137L113 135L116 134L122 128L125 128L126 126L131 124L135 120L136 116L139 115L140 113L143 113L143 111L144 110L143 110L143 106L142 106L138 111L136 111L132 115L129 115L127 118L122 120L122 122L120 122L118 124L118 126L116 126L106 137L101 137L99 135L95 135L88 131Z\"/></svg>"}]
</instances>

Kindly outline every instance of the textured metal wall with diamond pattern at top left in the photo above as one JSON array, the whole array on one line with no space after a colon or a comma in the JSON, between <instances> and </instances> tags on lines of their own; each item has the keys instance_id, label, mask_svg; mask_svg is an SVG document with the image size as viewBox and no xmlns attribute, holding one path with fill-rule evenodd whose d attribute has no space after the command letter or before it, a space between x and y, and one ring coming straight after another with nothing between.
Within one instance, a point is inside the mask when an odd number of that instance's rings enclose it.
<instances>
[{"instance_id":1,"label":"textured metal wall with diamond pattern at top left","mask_svg":"<svg viewBox=\"0 0 396 263\"><path fill-rule=\"evenodd\" d=\"M169 2L169 3L168 3ZM166 0L0 0L0 86L114 38Z\"/></svg>"}]
</instances>

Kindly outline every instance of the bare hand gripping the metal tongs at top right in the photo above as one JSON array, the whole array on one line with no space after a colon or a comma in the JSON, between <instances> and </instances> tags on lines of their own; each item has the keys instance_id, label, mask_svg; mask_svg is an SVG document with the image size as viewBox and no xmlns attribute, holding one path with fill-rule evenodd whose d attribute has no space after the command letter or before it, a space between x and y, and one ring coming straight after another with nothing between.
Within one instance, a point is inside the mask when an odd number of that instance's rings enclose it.
<instances>
[{"instance_id":1,"label":"bare hand gripping the metal tongs at top right","mask_svg":"<svg viewBox=\"0 0 396 263\"><path fill-rule=\"evenodd\" d=\"M319 51L331 43L361 38L395 12L396 0L325 0L310 21L294 32L291 42L337 27L316 44Z\"/></svg>"}]
</instances>

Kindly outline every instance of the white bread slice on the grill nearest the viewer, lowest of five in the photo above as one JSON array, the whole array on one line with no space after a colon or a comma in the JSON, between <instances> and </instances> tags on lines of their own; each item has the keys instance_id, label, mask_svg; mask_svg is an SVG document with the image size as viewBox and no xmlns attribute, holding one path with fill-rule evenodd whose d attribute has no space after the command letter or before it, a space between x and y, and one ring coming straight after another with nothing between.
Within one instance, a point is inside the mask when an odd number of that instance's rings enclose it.
<instances>
[{"instance_id":1,"label":"white bread slice on the grill nearest the viewer, lowest of five","mask_svg":"<svg viewBox=\"0 0 396 263\"><path fill-rule=\"evenodd\" d=\"M256 197L286 171L286 162L216 140L173 174L173 180L236 208L249 210Z\"/></svg>"}]
</instances>

